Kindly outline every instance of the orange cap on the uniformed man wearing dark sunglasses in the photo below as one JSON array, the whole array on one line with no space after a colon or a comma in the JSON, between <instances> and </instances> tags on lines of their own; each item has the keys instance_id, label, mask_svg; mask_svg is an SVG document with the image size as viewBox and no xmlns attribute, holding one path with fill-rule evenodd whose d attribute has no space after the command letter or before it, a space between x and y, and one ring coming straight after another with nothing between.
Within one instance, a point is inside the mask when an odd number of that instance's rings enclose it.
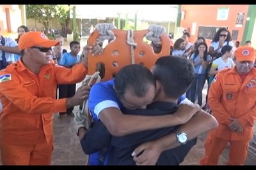
<instances>
[{"instance_id":1,"label":"orange cap on the uniformed man wearing dark sunglasses","mask_svg":"<svg viewBox=\"0 0 256 170\"><path fill-rule=\"evenodd\" d=\"M57 46L59 44L60 44L59 41L48 39L47 36L45 36L45 34L40 31L26 32L25 34L20 36L20 39L19 39L20 51L32 46L50 48L52 46Z\"/></svg>"}]
</instances>

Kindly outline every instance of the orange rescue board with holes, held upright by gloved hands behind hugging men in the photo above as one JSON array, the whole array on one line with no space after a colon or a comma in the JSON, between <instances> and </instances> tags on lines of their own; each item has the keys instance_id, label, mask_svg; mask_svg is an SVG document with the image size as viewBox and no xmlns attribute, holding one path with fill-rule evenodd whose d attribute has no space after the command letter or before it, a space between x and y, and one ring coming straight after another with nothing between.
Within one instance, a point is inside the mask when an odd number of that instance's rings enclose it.
<instances>
[{"instance_id":1,"label":"orange rescue board with holes, held upright by gloved hands behind hugging men","mask_svg":"<svg viewBox=\"0 0 256 170\"><path fill-rule=\"evenodd\" d=\"M117 73L120 68L132 64L131 45L127 43L128 31L113 29L116 36L115 41L108 43L104 52L100 55L92 56L88 54L88 74L94 74L97 63L101 62L105 67L105 76L102 81L111 80L113 74ZM149 30L134 31L133 39L137 45L134 49L134 64L143 64L150 69L159 57L170 55L170 41L167 34L161 36L162 49L160 53L155 53L153 47L143 41L143 38ZM95 30L88 39L88 44L92 45L99 36Z\"/></svg>"}]
</instances>

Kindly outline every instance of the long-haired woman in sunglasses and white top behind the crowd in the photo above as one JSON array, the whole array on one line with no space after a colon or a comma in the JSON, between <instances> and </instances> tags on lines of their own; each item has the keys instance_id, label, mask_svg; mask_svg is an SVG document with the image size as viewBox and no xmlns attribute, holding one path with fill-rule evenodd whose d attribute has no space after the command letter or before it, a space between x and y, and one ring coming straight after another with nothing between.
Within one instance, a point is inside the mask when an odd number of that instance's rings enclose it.
<instances>
[{"instance_id":1,"label":"long-haired woman in sunglasses and white top behind the crowd","mask_svg":"<svg viewBox=\"0 0 256 170\"><path fill-rule=\"evenodd\" d=\"M213 59L216 57L216 55L218 55L218 53L221 52L221 48L224 45L230 45L232 48L234 48L234 43L232 42L230 32L225 28L221 28L216 32L209 47L209 54Z\"/></svg>"}]
</instances>

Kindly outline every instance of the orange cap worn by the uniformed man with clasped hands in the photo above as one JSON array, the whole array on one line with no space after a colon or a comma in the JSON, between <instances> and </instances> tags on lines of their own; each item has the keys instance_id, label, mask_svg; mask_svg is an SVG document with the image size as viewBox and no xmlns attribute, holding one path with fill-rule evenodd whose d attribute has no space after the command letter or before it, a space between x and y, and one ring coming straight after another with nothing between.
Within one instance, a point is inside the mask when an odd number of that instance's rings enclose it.
<instances>
[{"instance_id":1,"label":"orange cap worn by the uniformed man with clasped hands","mask_svg":"<svg viewBox=\"0 0 256 170\"><path fill-rule=\"evenodd\" d=\"M234 55L237 61L255 62L255 49L252 46L239 46Z\"/></svg>"}]
</instances>

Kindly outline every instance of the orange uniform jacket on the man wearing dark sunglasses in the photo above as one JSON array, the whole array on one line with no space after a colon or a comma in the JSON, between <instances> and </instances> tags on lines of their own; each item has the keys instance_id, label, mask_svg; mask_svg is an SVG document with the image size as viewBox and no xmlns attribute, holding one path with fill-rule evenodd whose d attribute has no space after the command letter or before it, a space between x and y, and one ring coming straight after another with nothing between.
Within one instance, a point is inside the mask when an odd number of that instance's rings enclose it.
<instances>
[{"instance_id":1,"label":"orange uniform jacket on the man wearing dark sunglasses","mask_svg":"<svg viewBox=\"0 0 256 170\"><path fill-rule=\"evenodd\" d=\"M0 81L0 141L33 144L52 140L52 113L66 111L67 99L55 99L56 85L83 80L87 69L77 64L72 69L49 64L38 75L19 60L0 71L11 80Z\"/></svg>"}]
</instances>

